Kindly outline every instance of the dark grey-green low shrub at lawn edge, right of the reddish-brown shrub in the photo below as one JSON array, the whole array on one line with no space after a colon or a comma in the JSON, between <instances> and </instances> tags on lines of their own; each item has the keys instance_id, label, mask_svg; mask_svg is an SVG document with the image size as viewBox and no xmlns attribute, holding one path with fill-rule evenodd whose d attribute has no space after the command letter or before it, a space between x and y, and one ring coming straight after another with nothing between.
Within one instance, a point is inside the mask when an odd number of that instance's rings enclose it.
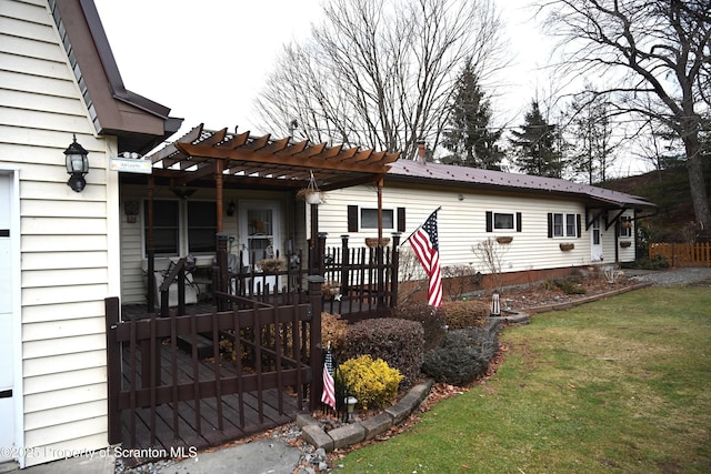
<instances>
[{"instance_id":1,"label":"dark grey-green low shrub at lawn edge, right of the reddish-brown shrub","mask_svg":"<svg viewBox=\"0 0 711 474\"><path fill-rule=\"evenodd\" d=\"M424 354L422 372L437 382L467 385L483 376L499 350L500 321L485 327L450 331L439 347Z\"/></svg>"}]
</instances>

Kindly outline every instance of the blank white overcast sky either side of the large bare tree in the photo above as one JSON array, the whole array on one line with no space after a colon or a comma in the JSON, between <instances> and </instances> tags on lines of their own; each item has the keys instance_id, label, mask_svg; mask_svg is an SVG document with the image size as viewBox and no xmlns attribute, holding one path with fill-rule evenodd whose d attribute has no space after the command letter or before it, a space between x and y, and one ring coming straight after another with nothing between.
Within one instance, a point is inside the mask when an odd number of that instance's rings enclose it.
<instances>
[{"instance_id":1,"label":"blank white overcast sky either side of the large bare tree","mask_svg":"<svg viewBox=\"0 0 711 474\"><path fill-rule=\"evenodd\" d=\"M507 23L511 65L493 107L518 127L548 90L552 41L531 19L531 0L495 0ZM283 44L309 36L321 0L94 0L127 89L183 118L174 138L210 130L260 130L253 101ZM538 91L538 92L537 92Z\"/></svg>"}]
</instances>

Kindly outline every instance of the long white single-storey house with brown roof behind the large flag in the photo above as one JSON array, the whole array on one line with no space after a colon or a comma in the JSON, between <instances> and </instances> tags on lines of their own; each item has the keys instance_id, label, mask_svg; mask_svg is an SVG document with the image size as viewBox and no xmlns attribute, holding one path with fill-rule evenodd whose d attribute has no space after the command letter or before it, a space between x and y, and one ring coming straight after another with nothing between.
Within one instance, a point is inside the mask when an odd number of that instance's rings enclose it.
<instances>
[{"instance_id":1,"label":"long white single-storey house with brown roof behind the large flag","mask_svg":"<svg viewBox=\"0 0 711 474\"><path fill-rule=\"evenodd\" d=\"M373 236L375 189L329 192L321 230L336 244ZM440 263L492 273L472 248L490 240L498 271L511 283L545 280L572 269L635 259L639 219L653 213L643 198L570 181L504 173L423 160L399 160L382 188L383 232L405 239L438 212Z\"/></svg>"}]
</instances>

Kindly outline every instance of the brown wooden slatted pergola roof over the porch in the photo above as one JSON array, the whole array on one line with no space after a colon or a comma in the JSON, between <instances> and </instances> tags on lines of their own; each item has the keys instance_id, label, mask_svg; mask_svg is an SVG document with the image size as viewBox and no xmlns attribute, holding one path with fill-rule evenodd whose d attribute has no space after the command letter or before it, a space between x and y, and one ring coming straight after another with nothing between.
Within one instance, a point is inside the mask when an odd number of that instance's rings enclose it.
<instances>
[{"instance_id":1,"label":"brown wooden slatted pergola roof over the porch","mask_svg":"<svg viewBox=\"0 0 711 474\"><path fill-rule=\"evenodd\" d=\"M289 137L272 140L269 134L210 131L200 124L147 158L153 163L154 175L171 178L174 184L212 180L221 173L226 183L234 180L300 189L308 185L313 173L319 188L329 191L380 180L399 155L358 147L311 144L308 140L294 142Z\"/></svg>"}]
</instances>

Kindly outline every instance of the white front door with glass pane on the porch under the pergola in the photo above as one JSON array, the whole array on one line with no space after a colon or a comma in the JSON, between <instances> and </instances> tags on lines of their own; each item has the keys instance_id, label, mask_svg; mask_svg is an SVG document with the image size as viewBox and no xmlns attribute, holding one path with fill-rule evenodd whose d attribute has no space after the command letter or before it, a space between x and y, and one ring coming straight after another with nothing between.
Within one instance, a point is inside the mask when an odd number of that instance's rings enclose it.
<instances>
[{"instance_id":1,"label":"white front door with glass pane on the porch under the pergola","mask_svg":"<svg viewBox=\"0 0 711 474\"><path fill-rule=\"evenodd\" d=\"M243 251L242 264L249 270L260 271L262 259L277 256L281 242L281 212L279 202L241 201L239 213L240 248ZM256 279L254 284L268 283L271 289L277 279Z\"/></svg>"}]
</instances>

